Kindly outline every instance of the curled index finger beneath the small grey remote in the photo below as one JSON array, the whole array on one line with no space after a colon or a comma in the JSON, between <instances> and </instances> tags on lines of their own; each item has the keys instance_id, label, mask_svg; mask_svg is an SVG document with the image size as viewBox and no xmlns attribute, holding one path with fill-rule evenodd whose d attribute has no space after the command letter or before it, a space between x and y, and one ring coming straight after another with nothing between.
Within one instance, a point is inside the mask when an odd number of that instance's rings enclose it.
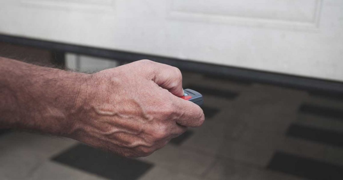
<instances>
[{"instance_id":1,"label":"curled index finger beneath the small grey remote","mask_svg":"<svg viewBox=\"0 0 343 180\"><path fill-rule=\"evenodd\" d=\"M199 127L205 120L200 106L193 102L171 95L176 113L179 115L176 123L181 126Z\"/></svg>"}]
</instances>

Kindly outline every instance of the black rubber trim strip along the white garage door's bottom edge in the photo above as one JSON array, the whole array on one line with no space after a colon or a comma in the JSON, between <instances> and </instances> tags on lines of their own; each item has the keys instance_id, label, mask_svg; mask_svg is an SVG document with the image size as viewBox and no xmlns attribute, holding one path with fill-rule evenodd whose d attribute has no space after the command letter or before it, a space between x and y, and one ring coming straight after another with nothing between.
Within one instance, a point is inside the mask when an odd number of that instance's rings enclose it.
<instances>
[{"instance_id":1,"label":"black rubber trim strip along the white garage door's bottom edge","mask_svg":"<svg viewBox=\"0 0 343 180\"><path fill-rule=\"evenodd\" d=\"M209 63L200 63L189 60L180 60L176 58L148 55L134 52L124 52L110 49L102 49L95 47L79 46L74 44L52 42L46 40L38 40L31 38L22 38L8 35L0 35L1 42L12 44L31 46L36 48L48 49L52 51L64 51L77 54L91 55L104 57L118 61L132 62L141 59L150 59L152 61L169 64L178 67L182 70L190 70L193 72L211 74L218 76L227 76L238 80L248 80L254 82L268 83L278 86L326 91L329 93L343 94L343 83L338 81L321 80L315 78L306 78L300 76L292 76L286 74L277 74L263 72L258 70L229 67L223 65L215 65Z\"/></svg>"}]
</instances>

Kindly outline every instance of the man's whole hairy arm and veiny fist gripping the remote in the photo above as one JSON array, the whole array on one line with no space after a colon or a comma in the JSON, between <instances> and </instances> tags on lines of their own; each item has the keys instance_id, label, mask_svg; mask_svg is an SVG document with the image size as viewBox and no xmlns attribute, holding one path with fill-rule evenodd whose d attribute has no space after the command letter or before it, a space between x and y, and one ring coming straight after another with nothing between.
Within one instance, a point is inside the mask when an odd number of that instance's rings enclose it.
<instances>
[{"instance_id":1,"label":"man's whole hairy arm and veiny fist gripping the remote","mask_svg":"<svg viewBox=\"0 0 343 180\"><path fill-rule=\"evenodd\" d=\"M198 105L179 98L182 76L172 66L141 60L86 75L0 61L0 128L38 130L141 157L204 121Z\"/></svg>"}]
</instances>

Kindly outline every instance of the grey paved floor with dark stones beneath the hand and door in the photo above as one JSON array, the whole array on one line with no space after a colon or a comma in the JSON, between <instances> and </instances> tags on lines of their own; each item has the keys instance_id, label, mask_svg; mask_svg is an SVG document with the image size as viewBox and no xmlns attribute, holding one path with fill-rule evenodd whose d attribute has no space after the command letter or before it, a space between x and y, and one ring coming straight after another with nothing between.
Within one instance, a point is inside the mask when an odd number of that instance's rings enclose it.
<instances>
[{"instance_id":1,"label":"grey paved floor with dark stones beneath the hand and door","mask_svg":"<svg viewBox=\"0 0 343 180\"><path fill-rule=\"evenodd\" d=\"M151 156L132 161L70 139L10 131L0 135L0 179L343 179L343 100L183 76L184 88L204 95L205 123Z\"/></svg>"}]
</instances>

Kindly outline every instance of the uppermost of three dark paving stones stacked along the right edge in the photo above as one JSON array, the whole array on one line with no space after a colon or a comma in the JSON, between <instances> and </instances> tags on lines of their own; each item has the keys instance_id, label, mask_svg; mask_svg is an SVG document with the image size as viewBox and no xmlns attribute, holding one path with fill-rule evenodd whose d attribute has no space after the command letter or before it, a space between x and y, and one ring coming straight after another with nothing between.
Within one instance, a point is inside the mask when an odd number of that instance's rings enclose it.
<instances>
[{"instance_id":1,"label":"uppermost of three dark paving stones stacked along the right edge","mask_svg":"<svg viewBox=\"0 0 343 180\"><path fill-rule=\"evenodd\" d=\"M337 118L343 120L343 110L334 109L330 107L323 107L314 104L303 104L299 108L299 112L312 114L328 118Z\"/></svg>"}]
</instances>

